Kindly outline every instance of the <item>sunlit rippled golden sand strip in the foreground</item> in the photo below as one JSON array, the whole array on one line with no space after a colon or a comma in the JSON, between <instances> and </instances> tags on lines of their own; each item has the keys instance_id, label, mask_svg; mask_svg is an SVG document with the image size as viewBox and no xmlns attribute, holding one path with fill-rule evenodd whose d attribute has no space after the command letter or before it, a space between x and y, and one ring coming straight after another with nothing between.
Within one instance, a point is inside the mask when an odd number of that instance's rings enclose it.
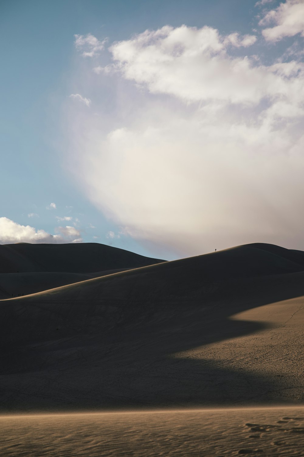
<instances>
[{"instance_id":1,"label":"sunlit rippled golden sand strip in the foreground","mask_svg":"<svg viewBox=\"0 0 304 457\"><path fill-rule=\"evenodd\" d=\"M2 416L1 456L303 456L304 408Z\"/></svg>"}]
</instances>

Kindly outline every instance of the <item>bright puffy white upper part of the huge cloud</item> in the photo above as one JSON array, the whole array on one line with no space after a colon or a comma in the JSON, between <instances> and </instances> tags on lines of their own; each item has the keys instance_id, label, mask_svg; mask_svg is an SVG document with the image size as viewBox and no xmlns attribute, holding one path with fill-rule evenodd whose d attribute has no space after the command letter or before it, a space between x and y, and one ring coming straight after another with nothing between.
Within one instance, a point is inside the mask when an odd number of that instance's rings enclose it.
<instances>
[{"instance_id":1,"label":"bright puffy white upper part of the huge cloud","mask_svg":"<svg viewBox=\"0 0 304 457\"><path fill-rule=\"evenodd\" d=\"M211 27L166 26L114 43L110 51L116 62L113 69L151 93L185 102L257 105L264 97L283 96L287 85L272 67L258 64L256 58L228 54L227 43L239 46L242 41L253 42L253 38L241 40L238 34L221 37ZM290 83L288 87L290 90ZM303 94L304 90L300 91Z\"/></svg>"}]
</instances>

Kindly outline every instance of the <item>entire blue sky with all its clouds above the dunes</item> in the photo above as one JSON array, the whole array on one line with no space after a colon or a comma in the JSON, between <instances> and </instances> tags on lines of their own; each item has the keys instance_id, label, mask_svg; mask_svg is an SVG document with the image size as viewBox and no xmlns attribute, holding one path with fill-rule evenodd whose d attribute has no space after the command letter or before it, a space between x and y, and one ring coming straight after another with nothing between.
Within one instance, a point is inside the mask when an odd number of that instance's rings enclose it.
<instances>
[{"instance_id":1,"label":"entire blue sky with all its clouds above the dunes","mask_svg":"<svg viewBox=\"0 0 304 457\"><path fill-rule=\"evenodd\" d=\"M0 244L304 250L304 1L0 2Z\"/></svg>"}]
</instances>

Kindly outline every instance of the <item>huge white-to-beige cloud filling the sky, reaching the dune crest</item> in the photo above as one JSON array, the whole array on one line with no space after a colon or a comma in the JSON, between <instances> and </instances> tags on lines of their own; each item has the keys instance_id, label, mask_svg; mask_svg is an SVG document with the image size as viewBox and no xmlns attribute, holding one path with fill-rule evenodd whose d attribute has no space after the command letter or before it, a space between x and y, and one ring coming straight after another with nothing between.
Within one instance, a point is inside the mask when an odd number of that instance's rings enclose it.
<instances>
[{"instance_id":1,"label":"huge white-to-beige cloud filling the sky, reaching the dune crest","mask_svg":"<svg viewBox=\"0 0 304 457\"><path fill-rule=\"evenodd\" d=\"M114 43L117 112L69 112L69 170L124 234L180 255L299 247L304 64L242 57L245 39L182 26Z\"/></svg>"}]
</instances>

